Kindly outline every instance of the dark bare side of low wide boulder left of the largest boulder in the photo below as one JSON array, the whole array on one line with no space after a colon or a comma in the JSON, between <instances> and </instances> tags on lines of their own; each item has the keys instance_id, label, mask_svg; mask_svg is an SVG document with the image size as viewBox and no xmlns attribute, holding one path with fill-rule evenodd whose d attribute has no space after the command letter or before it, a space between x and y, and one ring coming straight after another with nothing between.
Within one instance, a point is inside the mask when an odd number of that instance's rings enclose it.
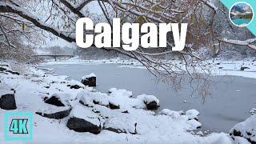
<instances>
[{"instance_id":1,"label":"dark bare side of low wide boulder left of the largest boulder","mask_svg":"<svg viewBox=\"0 0 256 144\"><path fill-rule=\"evenodd\" d=\"M52 114L46 114L42 112L36 112L35 114L41 115L42 117L46 117L46 118L62 119L62 118L66 118L70 114L70 111L71 109L58 111Z\"/></svg>"}]
</instances>

